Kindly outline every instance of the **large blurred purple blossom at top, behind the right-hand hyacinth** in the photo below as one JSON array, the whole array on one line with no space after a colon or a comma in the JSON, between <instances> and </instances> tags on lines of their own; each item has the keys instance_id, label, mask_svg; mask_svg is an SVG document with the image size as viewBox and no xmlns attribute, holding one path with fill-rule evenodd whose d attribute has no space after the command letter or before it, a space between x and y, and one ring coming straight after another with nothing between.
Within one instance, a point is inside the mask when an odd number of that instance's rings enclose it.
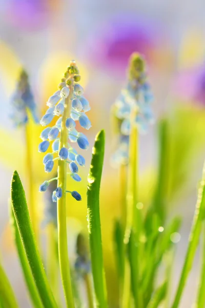
<instances>
[{"instance_id":1,"label":"large blurred purple blossom at top, behind the right-hand hyacinth","mask_svg":"<svg viewBox=\"0 0 205 308\"><path fill-rule=\"evenodd\" d=\"M97 65L125 71L132 52L145 55L149 62L152 51L159 45L160 32L156 24L141 16L118 15L96 29L89 38L88 56Z\"/></svg>"}]
</instances>

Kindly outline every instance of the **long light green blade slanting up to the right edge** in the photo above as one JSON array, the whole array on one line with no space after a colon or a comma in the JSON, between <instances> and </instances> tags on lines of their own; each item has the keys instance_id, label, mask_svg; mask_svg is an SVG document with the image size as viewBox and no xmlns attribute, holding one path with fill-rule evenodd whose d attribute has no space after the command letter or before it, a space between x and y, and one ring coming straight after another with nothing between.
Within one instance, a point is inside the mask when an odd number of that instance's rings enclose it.
<instances>
[{"instance_id":1,"label":"long light green blade slanting up to the right edge","mask_svg":"<svg viewBox=\"0 0 205 308\"><path fill-rule=\"evenodd\" d=\"M198 189L198 198L197 198L197 203L196 203L196 209L195 209L192 229L191 229L191 233L189 237L189 244L187 248L185 263L183 264L183 268L181 271L181 276L180 276L180 280L178 283L174 302L172 304L172 308L177 308L179 305L181 295L182 295L183 289L185 288L188 275L191 271L196 249L199 243L201 225L202 225L202 221L204 220L204 211L205 211L205 186L204 186L205 174L204 173L205 173L205 164L203 167L203 177L202 177L203 181L201 181L201 185Z\"/></svg>"}]
</instances>

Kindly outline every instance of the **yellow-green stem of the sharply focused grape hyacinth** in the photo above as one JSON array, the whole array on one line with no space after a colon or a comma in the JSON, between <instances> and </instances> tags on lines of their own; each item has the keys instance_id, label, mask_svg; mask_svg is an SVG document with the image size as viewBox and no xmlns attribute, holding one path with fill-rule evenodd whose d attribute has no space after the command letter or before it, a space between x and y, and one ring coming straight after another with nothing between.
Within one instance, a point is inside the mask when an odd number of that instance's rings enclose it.
<instances>
[{"instance_id":1,"label":"yellow-green stem of the sharply focused grape hyacinth","mask_svg":"<svg viewBox=\"0 0 205 308\"><path fill-rule=\"evenodd\" d=\"M67 146L68 130L66 119L69 118L71 110L71 100L73 96L73 86L69 87L70 93L65 100L65 109L61 123L59 150ZM60 275L64 288L64 295L67 307L74 308L70 264L68 258L67 226L66 226L66 186L67 186L67 164L64 160L58 160L58 181L57 187L61 187L63 194L57 199L57 222L58 222L58 256Z\"/></svg>"}]
</instances>

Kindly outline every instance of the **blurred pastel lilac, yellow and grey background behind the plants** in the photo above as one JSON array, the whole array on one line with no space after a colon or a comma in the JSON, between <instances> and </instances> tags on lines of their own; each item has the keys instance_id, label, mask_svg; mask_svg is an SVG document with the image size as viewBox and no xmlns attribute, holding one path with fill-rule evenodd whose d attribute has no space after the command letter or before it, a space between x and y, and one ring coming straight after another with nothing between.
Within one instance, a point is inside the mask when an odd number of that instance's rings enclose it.
<instances>
[{"instance_id":1,"label":"blurred pastel lilac, yellow and grey background behind the plants","mask_svg":"<svg viewBox=\"0 0 205 308\"><path fill-rule=\"evenodd\" d=\"M205 19L203 0L0 0L0 240L6 272L20 307L29 307L25 284L8 227L7 203L10 179L19 171L26 186L25 143L22 129L9 119L10 97L20 67L29 73L39 113L54 91L69 61L77 61L92 106L89 141L101 128L106 130L106 155L101 190L101 224L110 307L116 307L117 284L112 257L112 226L119 214L118 172L110 167L112 136L109 111L126 80L129 55L145 55L155 101L156 124L140 139L141 200L149 204L156 178L157 121L170 119L171 180L167 207L169 216L183 217L181 240L177 244L173 290L176 287L196 201L197 182L205 157ZM37 151L40 128L32 127L34 182L39 216L43 197L37 186L44 179L42 155ZM83 202L68 198L69 246L74 236L86 231L87 166L78 190ZM73 184L72 184L73 185ZM150 197L148 193L150 192ZM46 228L42 228L42 242ZM71 259L74 260L74 254ZM191 307L195 296L199 254L180 307Z\"/></svg>"}]
</instances>

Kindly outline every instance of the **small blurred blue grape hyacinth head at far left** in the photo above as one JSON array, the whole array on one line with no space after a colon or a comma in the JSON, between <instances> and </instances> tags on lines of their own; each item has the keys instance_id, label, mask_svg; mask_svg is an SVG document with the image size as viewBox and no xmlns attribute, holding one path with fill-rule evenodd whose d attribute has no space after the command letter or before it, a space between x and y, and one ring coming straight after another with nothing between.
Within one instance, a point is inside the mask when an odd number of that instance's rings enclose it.
<instances>
[{"instance_id":1,"label":"small blurred blue grape hyacinth head at far left","mask_svg":"<svg viewBox=\"0 0 205 308\"><path fill-rule=\"evenodd\" d=\"M10 115L15 126L22 126L28 122L28 111L35 123L38 123L36 104L29 85L28 74L22 70L16 90L11 99L12 113Z\"/></svg>"}]
</instances>

